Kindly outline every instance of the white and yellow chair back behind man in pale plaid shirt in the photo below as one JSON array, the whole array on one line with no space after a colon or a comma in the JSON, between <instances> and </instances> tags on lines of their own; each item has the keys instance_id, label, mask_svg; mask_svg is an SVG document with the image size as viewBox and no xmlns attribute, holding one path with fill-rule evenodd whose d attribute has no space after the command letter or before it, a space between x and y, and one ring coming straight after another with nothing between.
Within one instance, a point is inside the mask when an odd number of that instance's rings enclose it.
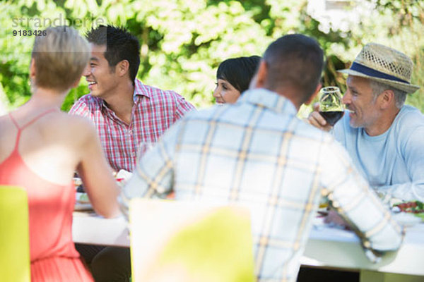
<instances>
[{"instance_id":1,"label":"white and yellow chair back behind man in pale plaid shirt","mask_svg":"<svg viewBox=\"0 0 424 282\"><path fill-rule=\"evenodd\" d=\"M255 280L247 209L133 199L129 216L133 282Z\"/></svg>"}]
</instances>

